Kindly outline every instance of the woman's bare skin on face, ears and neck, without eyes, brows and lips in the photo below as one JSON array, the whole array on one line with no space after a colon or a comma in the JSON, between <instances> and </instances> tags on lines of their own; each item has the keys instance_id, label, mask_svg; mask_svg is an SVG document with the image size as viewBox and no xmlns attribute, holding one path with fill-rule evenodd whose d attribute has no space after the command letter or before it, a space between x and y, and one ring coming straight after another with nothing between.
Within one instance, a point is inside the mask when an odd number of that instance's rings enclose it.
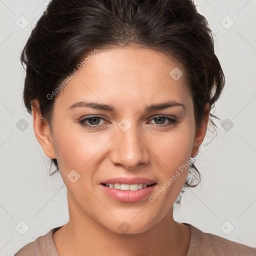
<instances>
[{"instance_id":1,"label":"woman's bare skin on face, ears and neck, without eyes, brows and lips","mask_svg":"<svg viewBox=\"0 0 256 256\"><path fill-rule=\"evenodd\" d=\"M169 72L183 75L174 80ZM40 118L38 101L32 102L34 132L44 153L56 158L67 188L69 221L53 234L59 256L64 255L186 255L190 229L173 219L173 203L188 174L181 175L150 202L148 197L119 202L107 196L99 183L116 176L142 176L155 180L153 195L176 170L194 156L203 141L206 114L196 130L193 101L182 65L160 52L136 47L113 47L99 52L61 89L54 102L52 130ZM114 112L74 107L78 101L110 104ZM176 100L185 106L144 112L144 107ZM77 121L87 120L88 129ZM178 122L169 126L168 119ZM118 123L126 118L127 131ZM98 124L94 124L98 123ZM157 126L158 124L158 126ZM80 178L72 183L67 174ZM130 229L118 226L126 221Z\"/></svg>"}]
</instances>

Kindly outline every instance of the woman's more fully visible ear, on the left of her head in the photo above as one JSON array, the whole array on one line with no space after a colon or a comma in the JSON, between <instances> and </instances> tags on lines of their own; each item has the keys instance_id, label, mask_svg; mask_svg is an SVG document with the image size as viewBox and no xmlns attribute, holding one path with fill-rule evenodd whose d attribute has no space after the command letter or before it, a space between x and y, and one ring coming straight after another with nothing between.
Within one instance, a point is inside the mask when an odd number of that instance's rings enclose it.
<instances>
[{"instance_id":1,"label":"woman's more fully visible ear, on the left of her head","mask_svg":"<svg viewBox=\"0 0 256 256\"><path fill-rule=\"evenodd\" d=\"M37 99L32 100L31 108L35 137L40 143L44 153L51 159L56 158L49 124L41 116L39 102Z\"/></svg>"}]
</instances>

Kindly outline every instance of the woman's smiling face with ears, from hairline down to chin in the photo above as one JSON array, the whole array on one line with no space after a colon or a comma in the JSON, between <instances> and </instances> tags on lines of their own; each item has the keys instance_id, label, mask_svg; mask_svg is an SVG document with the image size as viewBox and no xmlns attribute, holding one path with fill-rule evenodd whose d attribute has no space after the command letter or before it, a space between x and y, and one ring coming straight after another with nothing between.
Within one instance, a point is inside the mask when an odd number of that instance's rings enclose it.
<instances>
[{"instance_id":1,"label":"woman's smiling face with ears, from hairline down to chin","mask_svg":"<svg viewBox=\"0 0 256 256\"><path fill-rule=\"evenodd\" d=\"M119 233L126 221L129 232L138 233L172 209L207 123L205 118L196 130L186 77L173 75L173 68L184 72L150 49L99 51L58 92L51 136L33 115L45 154L58 161L72 201L70 218L86 216ZM164 103L169 105L160 107Z\"/></svg>"}]
</instances>

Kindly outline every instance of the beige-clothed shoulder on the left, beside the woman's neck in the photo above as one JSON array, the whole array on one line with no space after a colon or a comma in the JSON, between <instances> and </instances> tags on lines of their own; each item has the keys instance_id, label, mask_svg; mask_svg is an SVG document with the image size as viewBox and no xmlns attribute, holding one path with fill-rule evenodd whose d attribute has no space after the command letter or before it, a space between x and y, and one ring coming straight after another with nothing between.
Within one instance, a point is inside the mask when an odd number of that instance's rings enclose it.
<instances>
[{"instance_id":1,"label":"beige-clothed shoulder on the left, beside the woman's neck","mask_svg":"<svg viewBox=\"0 0 256 256\"><path fill-rule=\"evenodd\" d=\"M49 230L46 234L37 237L34 241L24 245L14 254L14 256L58 256L52 239L52 233L58 228L60 227L55 227Z\"/></svg>"}]
</instances>

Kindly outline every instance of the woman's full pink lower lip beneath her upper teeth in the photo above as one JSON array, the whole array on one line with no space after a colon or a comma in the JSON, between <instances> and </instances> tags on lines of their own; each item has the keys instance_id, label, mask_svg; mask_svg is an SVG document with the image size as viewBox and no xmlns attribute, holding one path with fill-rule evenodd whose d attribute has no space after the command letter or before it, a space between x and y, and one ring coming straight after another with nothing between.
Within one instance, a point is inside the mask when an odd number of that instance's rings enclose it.
<instances>
[{"instance_id":1,"label":"woman's full pink lower lip beneath her upper teeth","mask_svg":"<svg viewBox=\"0 0 256 256\"><path fill-rule=\"evenodd\" d=\"M156 186L156 183L152 186L148 186L138 190L121 190L102 184L100 184L100 186L108 196L115 200L118 200L120 202L137 202L148 196Z\"/></svg>"}]
</instances>

